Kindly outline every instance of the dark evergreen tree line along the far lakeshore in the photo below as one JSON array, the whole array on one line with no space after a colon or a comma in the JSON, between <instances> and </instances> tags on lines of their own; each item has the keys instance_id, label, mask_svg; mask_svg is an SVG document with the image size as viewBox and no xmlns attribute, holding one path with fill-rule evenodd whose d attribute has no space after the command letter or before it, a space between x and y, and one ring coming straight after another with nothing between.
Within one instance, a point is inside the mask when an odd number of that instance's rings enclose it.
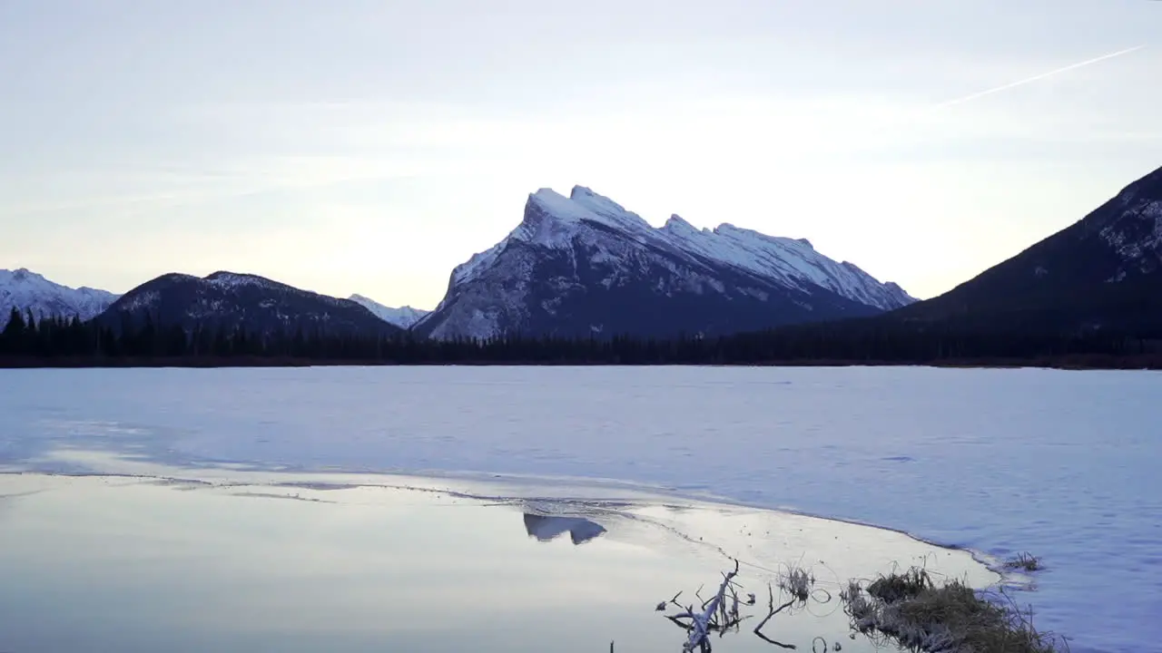
<instances>
[{"instance_id":1,"label":"dark evergreen tree line along the far lakeshore","mask_svg":"<svg viewBox=\"0 0 1162 653\"><path fill-rule=\"evenodd\" d=\"M295 329L254 333L184 329L145 318L119 329L13 310L0 331L2 366L514 364L805 365L1067 364L1162 366L1159 340L1126 333L980 330L868 320L719 338L524 337L429 340ZM1088 361L1088 363L1086 363Z\"/></svg>"}]
</instances>

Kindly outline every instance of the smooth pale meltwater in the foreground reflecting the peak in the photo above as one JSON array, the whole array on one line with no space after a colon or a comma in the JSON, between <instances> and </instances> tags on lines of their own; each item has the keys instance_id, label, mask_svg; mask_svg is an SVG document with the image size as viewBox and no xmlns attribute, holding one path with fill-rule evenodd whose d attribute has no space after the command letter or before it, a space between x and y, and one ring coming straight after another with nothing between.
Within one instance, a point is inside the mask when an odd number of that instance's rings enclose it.
<instances>
[{"instance_id":1,"label":"smooth pale meltwater in the foreground reflecting the peak","mask_svg":"<svg viewBox=\"0 0 1162 653\"><path fill-rule=\"evenodd\" d=\"M762 601L740 608L751 618L715 651L772 648L752 631L768 595L789 601L779 579L801 562L815 591L762 634L873 653L875 641L848 638L839 579L901 562L997 580L966 552L819 518L665 497L481 500L464 482L450 493L375 480L402 485L0 474L0 650L677 651L686 632L665 615L680 610L654 607L679 590L695 601L700 586L708 596L731 551L746 560L743 590Z\"/></svg>"}]
</instances>

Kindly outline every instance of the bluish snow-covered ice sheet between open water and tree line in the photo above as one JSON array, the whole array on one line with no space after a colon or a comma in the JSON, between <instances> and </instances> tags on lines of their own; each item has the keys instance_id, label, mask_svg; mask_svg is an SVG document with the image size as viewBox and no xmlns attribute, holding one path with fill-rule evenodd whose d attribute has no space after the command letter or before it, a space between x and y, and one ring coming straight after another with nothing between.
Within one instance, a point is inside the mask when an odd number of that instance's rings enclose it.
<instances>
[{"instance_id":1,"label":"bluish snow-covered ice sheet between open water and tree line","mask_svg":"<svg viewBox=\"0 0 1162 653\"><path fill-rule=\"evenodd\" d=\"M1162 374L1146 372L0 371L0 468L713 496L985 559L1032 552L1048 569L1018 598L1040 627L1076 653L1142 651L1162 639L1160 397Z\"/></svg>"}]
</instances>

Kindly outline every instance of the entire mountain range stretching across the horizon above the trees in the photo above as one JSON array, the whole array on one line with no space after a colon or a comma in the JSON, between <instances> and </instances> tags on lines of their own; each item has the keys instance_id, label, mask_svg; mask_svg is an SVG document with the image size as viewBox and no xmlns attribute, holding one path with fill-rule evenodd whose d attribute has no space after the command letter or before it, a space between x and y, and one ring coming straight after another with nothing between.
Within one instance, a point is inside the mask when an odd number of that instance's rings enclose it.
<instances>
[{"instance_id":1,"label":"entire mountain range stretching across the horizon above the trees","mask_svg":"<svg viewBox=\"0 0 1162 653\"><path fill-rule=\"evenodd\" d=\"M717 336L817 322L967 330L1162 331L1162 168L1070 227L938 297L917 301L806 239L672 216L650 225L576 186L528 196L519 224L457 266L432 311L337 299L234 272L165 274L123 296L0 271L0 325L15 307L114 329L143 321L436 339ZM856 318L856 320L848 320ZM868 322L870 320L870 322Z\"/></svg>"}]
</instances>

